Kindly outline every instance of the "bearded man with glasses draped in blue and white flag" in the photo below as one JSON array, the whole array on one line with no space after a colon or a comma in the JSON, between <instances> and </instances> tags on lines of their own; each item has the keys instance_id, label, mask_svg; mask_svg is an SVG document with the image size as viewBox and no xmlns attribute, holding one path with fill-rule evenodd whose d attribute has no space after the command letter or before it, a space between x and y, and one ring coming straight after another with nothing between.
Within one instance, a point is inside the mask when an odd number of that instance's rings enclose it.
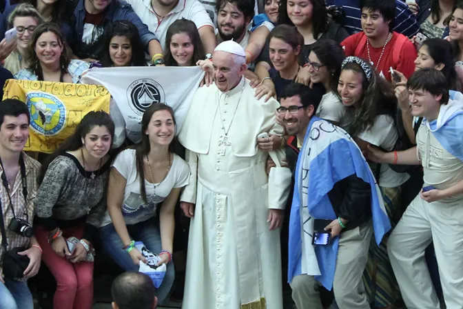
<instances>
[{"instance_id":1,"label":"bearded man with glasses draped in blue and white flag","mask_svg":"<svg viewBox=\"0 0 463 309\"><path fill-rule=\"evenodd\" d=\"M302 143L289 219L288 281L298 309L323 308L320 286L333 289L339 308L369 309L362 272L370 239L374 229L380 243L391 224L360 148L342 128L314 116L319 103L308 86L291 83L277 109L288 134ZM325 233L329 243L313 244Z\"/></svg>"}]
</instances>

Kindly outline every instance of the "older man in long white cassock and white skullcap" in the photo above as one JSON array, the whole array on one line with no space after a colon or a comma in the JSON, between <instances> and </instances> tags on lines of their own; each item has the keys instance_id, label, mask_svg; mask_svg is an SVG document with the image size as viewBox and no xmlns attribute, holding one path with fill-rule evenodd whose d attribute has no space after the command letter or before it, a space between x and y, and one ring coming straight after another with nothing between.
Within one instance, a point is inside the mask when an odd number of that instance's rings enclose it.
<instances>
[{"instance_id":1,"label":"older man in long white cassock and white skullcap","mask_svg":"<svg viewBox=\"0 0 463 309\"><path fill-rule=\"evenodd\" d=\"M267 176L258 134L282 134L278 101L254 97L245 50L214 50L215 84L196 92L178 138L191 169L181 208L192 217L183 309L281 309L280 224L291 172L283 150Z\"/></svg>"}]
</instances>

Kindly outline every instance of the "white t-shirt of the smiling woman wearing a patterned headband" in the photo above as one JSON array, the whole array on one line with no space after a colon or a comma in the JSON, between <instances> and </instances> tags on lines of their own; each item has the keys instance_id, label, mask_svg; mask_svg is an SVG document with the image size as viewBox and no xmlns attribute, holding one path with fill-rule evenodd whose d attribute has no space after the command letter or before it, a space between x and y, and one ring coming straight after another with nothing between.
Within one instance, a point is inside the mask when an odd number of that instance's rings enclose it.
<instances>
[{"instance_id":1,"label":"white t-shirt of the smiling woman wearing a patterned headband","mask_svg":"<svg viewBox=\"0 0 463 309\"><path fill-rule=\"evenodd\" d=\"M376 117L373 126L369 130L358 134L358 138L371 143L371 145L391 151L399 138L399 134L397 129L395 129L392 117L387 114L380 114ZM409 178L410 176L406 172L394 172L389 165L381 165L379 185L384 188L395 188Z\"/></svg>"}]
</instances>

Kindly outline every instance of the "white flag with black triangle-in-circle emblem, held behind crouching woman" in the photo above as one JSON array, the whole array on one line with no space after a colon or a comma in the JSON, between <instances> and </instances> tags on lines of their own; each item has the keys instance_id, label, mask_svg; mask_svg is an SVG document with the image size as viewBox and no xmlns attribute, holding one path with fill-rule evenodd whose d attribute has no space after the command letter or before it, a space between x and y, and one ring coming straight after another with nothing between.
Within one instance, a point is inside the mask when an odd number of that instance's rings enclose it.
<instances>
[{"instance_id":1,"label":"white flag with black triangle-in-circle emblem, held behind crouching woman","mask_svg":"<svg viewBox=\"0 0 463 309\"><path fill-rule=\"evenodd\" d=\"M92 68L81 83L103 85L111 93L125 119L125 134L141 140L141 118L152 103L166 103L175 112L176 132L180 131L189 105L204 72L190 67Z\"/></svg>"}]
</instances>

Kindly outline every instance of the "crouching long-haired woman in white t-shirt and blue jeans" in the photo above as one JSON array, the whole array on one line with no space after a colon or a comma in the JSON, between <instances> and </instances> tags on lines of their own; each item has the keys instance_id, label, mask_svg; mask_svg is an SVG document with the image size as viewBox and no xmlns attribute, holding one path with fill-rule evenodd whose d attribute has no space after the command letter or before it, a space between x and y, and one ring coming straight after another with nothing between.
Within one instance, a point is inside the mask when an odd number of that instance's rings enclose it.
<instances>
[{"instance_id":1,"label":"crouching long-haired woman in white t-shirt and blue jeans","mask_svg":"<svg viewBox=\"0 0 463 309\"><path fill-rule=\"evenodd\" d=\"M161 257L158 265L165 263L167 271L156 291L160 303L174 282L174 209L189 181L187 163L173 152L175 126L174 111L166 104L147 108L141 143L121 152L112 163L107 212L100 228L103 248L124 270L138 271L139 263L147 261L134 248L135 241Z\"/></svg>"}]
</instances>

